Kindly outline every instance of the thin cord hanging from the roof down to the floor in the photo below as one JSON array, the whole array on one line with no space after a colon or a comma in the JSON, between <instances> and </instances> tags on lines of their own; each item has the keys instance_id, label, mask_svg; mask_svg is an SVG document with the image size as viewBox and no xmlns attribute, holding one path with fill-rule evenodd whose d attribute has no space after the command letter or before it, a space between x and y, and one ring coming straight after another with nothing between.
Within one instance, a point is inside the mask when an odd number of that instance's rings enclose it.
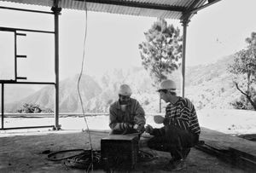
<instances>
[{"instance_id":1,"label":"thin cord hanging from the roof down to the floor","mask_svg":"<svg viewBox=\"0 0 256 173\"><path fill-rule=\"evenodd\" d=\"M86 128L87 128L87 132L88 132L88 136L89 136L89 140L90 140L90 165L88 166L87 172L90 170L93 170L93 148L92 148L92 143L91 143L91 137L90 137L90 130L89 130L89 126L88 126L88 122L85 118L85 112L84 112L84 103L83 103L83 99L80 93L80 89L79 89L79 84L80 84L80 80L81 77L83 75L83 71L84 71L84 57L85 57L85 43L86 43L86 37L87 37L87 5L86 5L86 0L84 0L84 10L85 10L85 30L84 30L84 44L83 44L83 60L82 60L82 66L81 66L81 72L79 74L79 80L78 80L78 92L79 92L79 101L81 103L81 107L82 107L82 112L83 112L83 117L84 117L84 122L86 124Z\"/></svg>"}]
</instances>

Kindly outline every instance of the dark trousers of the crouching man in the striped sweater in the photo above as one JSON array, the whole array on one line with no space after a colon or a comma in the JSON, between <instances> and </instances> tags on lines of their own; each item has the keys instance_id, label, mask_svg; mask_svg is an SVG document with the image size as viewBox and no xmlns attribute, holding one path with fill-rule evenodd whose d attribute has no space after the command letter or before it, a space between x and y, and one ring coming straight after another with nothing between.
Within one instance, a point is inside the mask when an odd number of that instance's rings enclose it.
<instances>
[{"instance_id":1,"label":"dark trousers of the crouching man in the striped sweater","mask_svg":"<svg viewBox=\"0 0 256 173\"><path fill-rule=\"evenodd\" d=\"M148 141L148 147L169 152L173 159L185 159L198 142L199 136L190 133L188 130L181 130L176 126L168 126L164 136L154 136Z\"/></svg>"}]
</instances>

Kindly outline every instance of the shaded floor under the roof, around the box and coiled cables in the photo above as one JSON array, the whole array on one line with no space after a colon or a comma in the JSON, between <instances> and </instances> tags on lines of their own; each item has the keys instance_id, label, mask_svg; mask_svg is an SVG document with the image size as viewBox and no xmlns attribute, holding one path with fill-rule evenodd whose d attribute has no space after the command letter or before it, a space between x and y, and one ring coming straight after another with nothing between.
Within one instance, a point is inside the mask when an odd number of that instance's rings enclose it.
<instances>
[{"instance_id":1,"label":"shaded floor under the roof, around the box and coiled cables","mask_svg":"<svg viewBox=\"0 0 256 173\"><path fill-rule=\"evenodd\" d=\"M100 149L102 137L108 133L91 132L94 149ZM89 149L89 137L86 132L55 131L33 133L32 136L0 137L0 172L84 172L63 164L64 161L50 161L44 151L57 152L67 149ZM147 149L147 148L144 148ZM163 166L171 159L170 153L148 150L157 159L137 164L130 172L166 172ZM222 160L191 149L186 159L187 167L179 172L246 172L245 170L224 163ZM94 172L104 172L94 170Z\"/></svg>"}]
</instances>

